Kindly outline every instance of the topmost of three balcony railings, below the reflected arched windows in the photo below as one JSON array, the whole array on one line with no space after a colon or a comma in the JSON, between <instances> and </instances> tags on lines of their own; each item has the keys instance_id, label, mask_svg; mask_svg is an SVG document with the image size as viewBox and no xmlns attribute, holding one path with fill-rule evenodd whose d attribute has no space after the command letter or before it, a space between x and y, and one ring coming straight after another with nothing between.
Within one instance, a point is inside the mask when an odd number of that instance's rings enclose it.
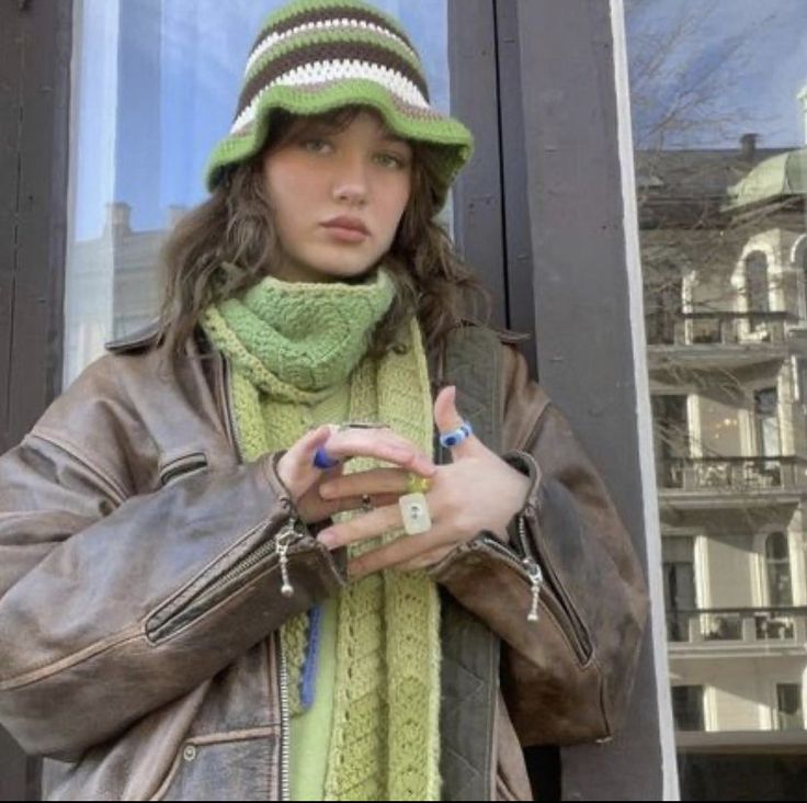
<instances>
[{"instance_id":1,"label":"topmost of three balcony railings, below the reflected arched windows","mask_svg":"<svg viewBox=\"0 0 807 803\"><path fill-rule=\"evenodd\" d=\"M796 320L785 312L650 313L647 342L650 346L736 346L785 342L785 321Z\"/></svg>"}]
</instances>

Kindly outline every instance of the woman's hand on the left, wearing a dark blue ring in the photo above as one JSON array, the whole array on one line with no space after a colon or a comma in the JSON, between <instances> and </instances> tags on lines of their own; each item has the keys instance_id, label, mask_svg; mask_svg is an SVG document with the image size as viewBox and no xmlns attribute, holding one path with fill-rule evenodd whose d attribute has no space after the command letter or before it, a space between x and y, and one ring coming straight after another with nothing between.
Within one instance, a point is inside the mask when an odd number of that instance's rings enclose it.
<instances>
[{"instance_id":1,"label":"woman's hand on the left, wearing a dark blue ring","mask_svg":"<svg viewBox=\"0 0 807 803\"><path fill-rule=\"evenodd\" d=\"M339 460L339 464L332 468L317 468L314 465L314 456L320 446L325 446L329 457ZM333 513L351 509L345 507L344 499L323 499L319 494L319 486L328 479L340 476L344 462L357 456L374 457L397 466L363 473L375 488L379 487L379 484L377 477L376 482L373 482L374 475L385 475L382 485L398 488L405 484L393 478L391 475L395 473L406 475L412 472L422 477L431 477L436 472L436 465L430 456L388 427L338 429L334 425L322 425L306 432L277 461L277 475L288 489L303 521L311 524ZM373 506L391 505L399 496L400 491L374 493Z\"/></svg>"}]
</instances>

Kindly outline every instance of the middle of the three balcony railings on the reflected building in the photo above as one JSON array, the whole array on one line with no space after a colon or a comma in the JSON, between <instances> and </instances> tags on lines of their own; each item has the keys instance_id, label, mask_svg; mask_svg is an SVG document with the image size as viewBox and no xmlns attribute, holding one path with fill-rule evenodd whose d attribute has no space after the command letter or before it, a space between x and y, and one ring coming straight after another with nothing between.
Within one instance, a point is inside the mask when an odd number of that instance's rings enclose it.
<instances>
[{"instance_id":1,"label":"middle of the three balcony railings on the reflected building","mask_svg":"<svg viewBox=\"0 0 807 803\"><path fill-rule=\"evenodd\" d=\"M806 485L806 462L793 455L668 457L660 461L659 485L681 490L788 490Z\"/></svg>"}]
</instances>

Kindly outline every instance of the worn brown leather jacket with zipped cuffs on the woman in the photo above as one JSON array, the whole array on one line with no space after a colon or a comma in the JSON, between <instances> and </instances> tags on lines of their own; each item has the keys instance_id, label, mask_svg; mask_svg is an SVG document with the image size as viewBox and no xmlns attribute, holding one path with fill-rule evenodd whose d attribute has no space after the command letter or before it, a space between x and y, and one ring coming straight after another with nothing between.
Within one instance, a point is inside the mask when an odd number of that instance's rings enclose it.
<instances>
[{"instance_id":1,"label":"worn brown leather jacket with zipped cuffs on the woman","mask_svg":"<svg viewBox=\"0 0 807 803\"><path fill-rule=\"evenodd\" d=\"M530 800L520 745L610 738L648 608L596 471L505 340L476 369L533 485L510 548L480 533L432 570L446 800ZM0 457L0 723L48 757L48 799L283 799L276 631L339 592L343 550L294 520L279 454L240 461L220 354L195 338L164 361L152 341L112 348Z\"/></svg>"}]
</instances>

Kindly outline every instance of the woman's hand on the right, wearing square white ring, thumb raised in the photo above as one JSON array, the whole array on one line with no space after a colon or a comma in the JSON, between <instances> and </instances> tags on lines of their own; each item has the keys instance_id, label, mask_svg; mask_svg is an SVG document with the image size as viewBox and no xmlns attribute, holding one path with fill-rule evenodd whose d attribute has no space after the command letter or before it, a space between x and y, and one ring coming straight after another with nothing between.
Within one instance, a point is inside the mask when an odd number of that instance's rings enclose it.
<instances>
[{"instance_id":1,"label":"woman's hand on the right, wearing square white ring, thumb raised","mask_svg":"<svg viewBox=\"0 0 807 803\"><path fill-rule=\"evenodd\" d=\"M444 387L434 402L434 421L441 432L456 429L463 422L455 407L455 395L454 386ZM424 495L431 529L417 535L402 535L353 558L348 565L351 577L393 566L398 569L431 566L481 530L508 541L507 525L526 501L528 477L508 465L474 434L452 446L451 453L453 462L437 466L431 488ZM407 493L407 473L402 471L376 472L374 487L370 487L368 480L370 474L365 472L339 476L323 483L320 494L327 499L349 501L345 507L353 508L359 507L362 495ZM337 548L402 525L398 505L387 505L329 527L317 538L329 548Z\"/></svg>"}]
</instances>

